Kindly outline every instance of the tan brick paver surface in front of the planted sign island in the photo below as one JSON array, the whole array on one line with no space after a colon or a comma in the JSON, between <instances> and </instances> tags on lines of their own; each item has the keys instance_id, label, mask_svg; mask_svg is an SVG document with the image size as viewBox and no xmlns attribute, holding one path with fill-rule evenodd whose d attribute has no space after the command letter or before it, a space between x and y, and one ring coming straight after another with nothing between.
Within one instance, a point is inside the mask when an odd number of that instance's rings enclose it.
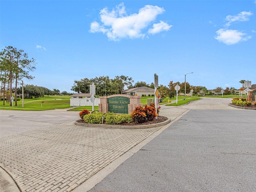
<instances>
[{"instance_id":1,"label":"tan brick paver surface in front of the planted sign island","mask_svg":"<svg viewBox=\"0 0 256 192\"><path fill-rule=\"evenodd\" d=\"M176 119L188 109L162 106ZM64 123L0 138L0 166L22 192L70 192L161 129L111 129Z\"/></svg>"}]
</instances>

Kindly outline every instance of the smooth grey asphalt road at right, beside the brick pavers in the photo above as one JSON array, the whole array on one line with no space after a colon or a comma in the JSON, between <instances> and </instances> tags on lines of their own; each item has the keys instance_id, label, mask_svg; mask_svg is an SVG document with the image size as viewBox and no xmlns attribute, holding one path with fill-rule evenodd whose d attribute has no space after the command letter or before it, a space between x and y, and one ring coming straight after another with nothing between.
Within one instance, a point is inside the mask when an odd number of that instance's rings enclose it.
<instances>
[{"instance_id":1,"label":"smooth grey asphalt road at right, beside the brick pavers","mask_svg":"<svg viewBox=\"0 0 256 192\"><path fill-rule=\"evenodd\" d=\"M90 190L234 191L256 191L255 110L192 109Z\"/></svg>"}]
</instances>

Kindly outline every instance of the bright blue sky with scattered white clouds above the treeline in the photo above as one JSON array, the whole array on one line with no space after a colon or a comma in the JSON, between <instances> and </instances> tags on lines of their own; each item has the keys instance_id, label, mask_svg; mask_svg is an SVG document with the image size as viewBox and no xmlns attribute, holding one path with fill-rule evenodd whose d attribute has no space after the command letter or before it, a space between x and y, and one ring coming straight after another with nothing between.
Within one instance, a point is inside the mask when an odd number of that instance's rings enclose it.
<instances>
[{"instance_id":1,"label":"bright blue sky with scattered white clouds above the treeline","mask_svg":"<svg viewBox=\"0 0 256 192\"><path fill-rule=\"evenodd\" d=\"M255 0L1 0L0 48L36 59L25 84L73 92L75 80L125 75L168 85L256 84Z\"/></svg>"}]
</instances>

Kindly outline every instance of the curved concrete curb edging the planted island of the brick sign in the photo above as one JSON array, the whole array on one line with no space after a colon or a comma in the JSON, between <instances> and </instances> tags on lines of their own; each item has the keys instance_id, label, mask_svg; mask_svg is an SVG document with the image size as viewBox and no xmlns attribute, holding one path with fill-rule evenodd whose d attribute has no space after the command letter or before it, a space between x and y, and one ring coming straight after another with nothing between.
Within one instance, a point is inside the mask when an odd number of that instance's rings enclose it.
<instances>
[{"instance_id":1,"label":"curved concrete curb edging the planted island of the brick sign","mask_svg":"<svg viewBox=\"0 0 256 192\"><path fill-rule=\"evenodd\" d=\"M75 125L84 126L84 127L104 127L104 128L117 128L117 129L146 129L146 128L164 126L170 122L171 122L171 119L168 118L166 121L161 123L154 123L150 125L138 125L138 126L77 123L76 121L75 121Z\"/></svg>"}]
</instances>

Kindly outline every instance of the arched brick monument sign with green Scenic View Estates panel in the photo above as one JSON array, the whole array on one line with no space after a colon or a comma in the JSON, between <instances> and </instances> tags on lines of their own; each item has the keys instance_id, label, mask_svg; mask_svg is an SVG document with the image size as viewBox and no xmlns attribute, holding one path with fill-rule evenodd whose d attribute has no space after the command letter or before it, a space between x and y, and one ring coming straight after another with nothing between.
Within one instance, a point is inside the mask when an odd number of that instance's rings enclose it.
<instances>
[{"instance_id":1,"label":"arched brick monument sign with green Scenic View Estates panel","mask_svg":"<svg viewBox=\"0 0 256 192\"><path fill-rule=\"evenodd\" d=\"M123 94L100 97L99 112L130 114L135 109L135 107L142 105L140 103L140 99L141 96Z\"/></svg>"}]
</instances>

